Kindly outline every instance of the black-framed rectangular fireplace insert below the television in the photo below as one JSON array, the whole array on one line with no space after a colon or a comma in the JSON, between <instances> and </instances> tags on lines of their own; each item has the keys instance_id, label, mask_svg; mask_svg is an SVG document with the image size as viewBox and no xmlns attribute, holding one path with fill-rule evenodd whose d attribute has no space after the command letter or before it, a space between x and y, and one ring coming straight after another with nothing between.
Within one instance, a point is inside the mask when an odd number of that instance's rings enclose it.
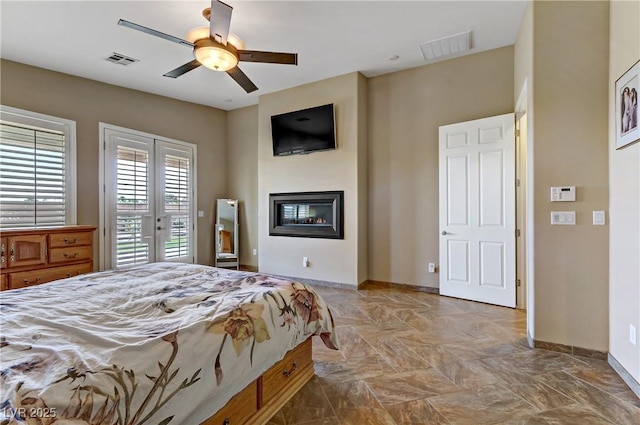
<instances>
[{"instance_id":1,"label":"black-framed rectangular fireplace insert below the television","mask_svg":"<svg viewBox=\"0 0 640 425\"><path fill-rule=\"evenodd\" d=\"M269 235L344 239L344 191L269 194Z\"/></svg>"}]
</instances>

